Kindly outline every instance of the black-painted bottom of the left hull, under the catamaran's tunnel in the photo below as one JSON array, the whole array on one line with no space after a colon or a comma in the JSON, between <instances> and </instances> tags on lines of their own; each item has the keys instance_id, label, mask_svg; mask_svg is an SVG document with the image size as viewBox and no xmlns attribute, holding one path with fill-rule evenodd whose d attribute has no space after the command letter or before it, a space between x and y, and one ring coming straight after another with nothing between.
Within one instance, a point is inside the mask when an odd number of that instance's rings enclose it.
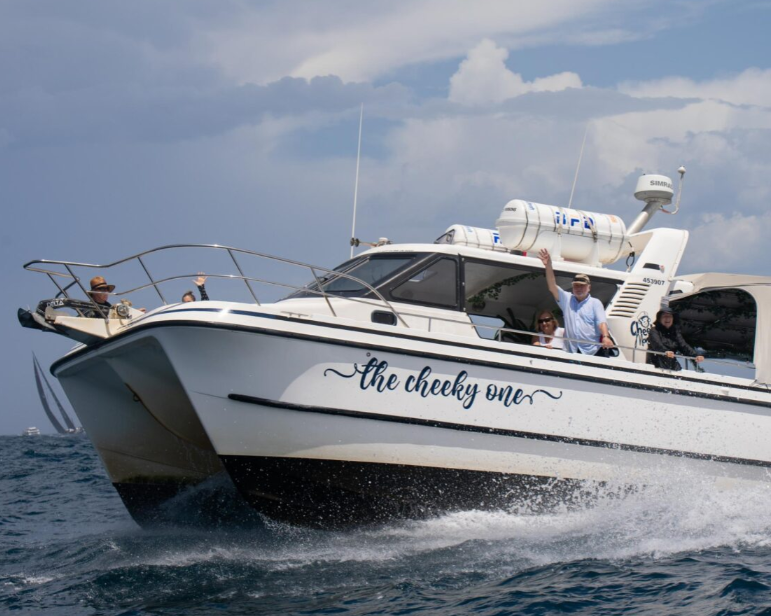
<instances>
[{"instance_id":1,"label":"black-painted bottom of the left hull, under the catamaran's tunnel","mask_svg":"<svg viewBox=\"0 0 771 616\"><path fill-rule=\"evenodd\" d=\"M252 526L260 517L224 473L197 485L114 483L134 521L158 526Z\"/></svg>"}]
</instances>

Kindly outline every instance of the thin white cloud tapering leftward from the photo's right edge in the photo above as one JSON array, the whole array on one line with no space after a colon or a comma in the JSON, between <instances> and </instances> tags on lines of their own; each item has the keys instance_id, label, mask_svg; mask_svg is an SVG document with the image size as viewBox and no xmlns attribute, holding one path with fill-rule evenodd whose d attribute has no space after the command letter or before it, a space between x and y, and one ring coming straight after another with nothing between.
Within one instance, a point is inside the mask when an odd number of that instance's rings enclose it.
<instances>
[{"instance_id":1,"label":"thin white cloud tapering leftward from the photo's right edge","mask_svg":"<svg viewBox=\"0 0 771 616\"><path fill-rule=\"evenodd\" d=\"M666 77L653 81L625 82L619 90L631 96L717 99L736 105L771 106L771 69L749 68L737 75L694 81Z\"/></svg>"}]
</instances>

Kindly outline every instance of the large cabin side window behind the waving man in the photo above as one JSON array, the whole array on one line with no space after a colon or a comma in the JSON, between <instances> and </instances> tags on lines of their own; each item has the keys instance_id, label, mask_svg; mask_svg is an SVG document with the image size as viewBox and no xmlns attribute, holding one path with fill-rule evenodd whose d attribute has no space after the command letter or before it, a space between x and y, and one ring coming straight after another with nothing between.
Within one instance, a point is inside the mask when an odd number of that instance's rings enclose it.
<instances>
[{"instance_id":1,"label":"large cabin side window behind the waving man","mask_svg":"<svg viewBox=\"0 0 771 616\"><path fill-rule=\"evenodd\" d=\"M530 344L535 331L536 313L550 310L562 324L562 314L549 292L543 270L512 266L492 261L466 259L463 263L464 310L472 322L488 325L500 322L506 329L496 336L504 342ZM570 289L573 274L555 271L557 284ZM618 290L615 281L592 280L592 296L607 305ZM487 331L484 331L487 330ZM490 337L489 328L477 328L477 333Z\"/></svg>"}]
</instances>

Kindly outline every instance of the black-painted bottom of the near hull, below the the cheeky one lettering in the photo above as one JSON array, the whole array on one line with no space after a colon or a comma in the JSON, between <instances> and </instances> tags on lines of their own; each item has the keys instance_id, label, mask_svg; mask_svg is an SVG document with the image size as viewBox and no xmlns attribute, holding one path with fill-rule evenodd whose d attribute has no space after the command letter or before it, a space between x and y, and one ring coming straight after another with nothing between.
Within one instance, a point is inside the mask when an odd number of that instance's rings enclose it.
<instances>
[{"instance_id":1,"label":"black-painted bottom of the near hull, below the the cheeky one lettering","mask_svg":"<svg viewBox=\"0 0 771 616\"><path fill-rule=\"evenodd\" d=\"M223 456L246 500L266 516L341 528L452 511L537 513L585 504L597 484L550 477L303 458Z\"/></svg>"}]
</instances>

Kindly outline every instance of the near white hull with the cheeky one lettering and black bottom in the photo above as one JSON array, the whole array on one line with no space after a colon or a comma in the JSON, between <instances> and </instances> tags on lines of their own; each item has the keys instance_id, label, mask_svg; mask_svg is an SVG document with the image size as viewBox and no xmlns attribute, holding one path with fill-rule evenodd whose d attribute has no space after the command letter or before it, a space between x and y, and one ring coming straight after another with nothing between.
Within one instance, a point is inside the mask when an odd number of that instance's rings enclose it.
<instances>
[{"instance_id":1,"label":"near white hull with the cheeky one lettering and black bottom","mask_svg":"<svg viewBox=\"0 0 771 616\"><path fill-rule=\"evenodd\" d=\"M667 473L765 482L771 467L769 401L751 388L265 319L154 336L241 493L290 522L540 506Z\"/></svg>"}]
</instances>

